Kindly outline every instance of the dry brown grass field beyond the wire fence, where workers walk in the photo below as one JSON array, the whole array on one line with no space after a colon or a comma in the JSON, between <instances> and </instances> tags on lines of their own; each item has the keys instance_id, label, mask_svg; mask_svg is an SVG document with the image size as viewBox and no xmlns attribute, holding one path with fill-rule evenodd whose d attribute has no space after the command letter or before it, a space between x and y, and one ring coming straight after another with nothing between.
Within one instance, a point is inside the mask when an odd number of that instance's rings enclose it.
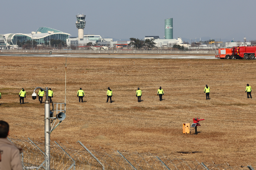
<instances>
[{"instance_id":1,"label":"dry brown grass field beyond the wire fence, where workers walk","mask_svg":"<svg viewBox=\"0 0 256 170\"><path fill-rule=\"evenodd\" d=\"M0 57L0 119L10 124L11 136L44 140L44 104L31 94L36 87L49 87L53 101L64 102L63 63L65 58ZM255 165L256 60L67 58L67 63L67 117L52 141ZM245 93L247 83L252 99ZM203 93L206 84L210 100ZM160 86L163 101L157 96ZM83 103L76 96L80 87ZM113 91L111 104L106 103L107 87ZM21 88L27 92L24 105L19 104ZM198 135L194 130L183 134L182 124L191 125L196 117L205 119Z\"/></svg>"}]
</instances>

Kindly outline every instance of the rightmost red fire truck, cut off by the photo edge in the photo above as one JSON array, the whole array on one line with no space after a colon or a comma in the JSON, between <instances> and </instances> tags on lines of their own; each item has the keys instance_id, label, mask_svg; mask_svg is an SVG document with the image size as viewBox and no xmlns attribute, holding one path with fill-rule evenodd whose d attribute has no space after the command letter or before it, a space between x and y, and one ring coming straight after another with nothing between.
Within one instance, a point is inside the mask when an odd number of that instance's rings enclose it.
<instances>
[{"instance_id":1,"label":"rightmost red fire truck, cut off by the photo edge","mask_svg":"<svg viewBox=\"0 0 256 170\"><path fill-rule=\"evenodd\" d=\"M248 59L255 59L256 55L256 46L242 46L242 47L233 47L232 55L234 55L235 58L243 58L245 60Z\"/></svg>"}]
</instances>

